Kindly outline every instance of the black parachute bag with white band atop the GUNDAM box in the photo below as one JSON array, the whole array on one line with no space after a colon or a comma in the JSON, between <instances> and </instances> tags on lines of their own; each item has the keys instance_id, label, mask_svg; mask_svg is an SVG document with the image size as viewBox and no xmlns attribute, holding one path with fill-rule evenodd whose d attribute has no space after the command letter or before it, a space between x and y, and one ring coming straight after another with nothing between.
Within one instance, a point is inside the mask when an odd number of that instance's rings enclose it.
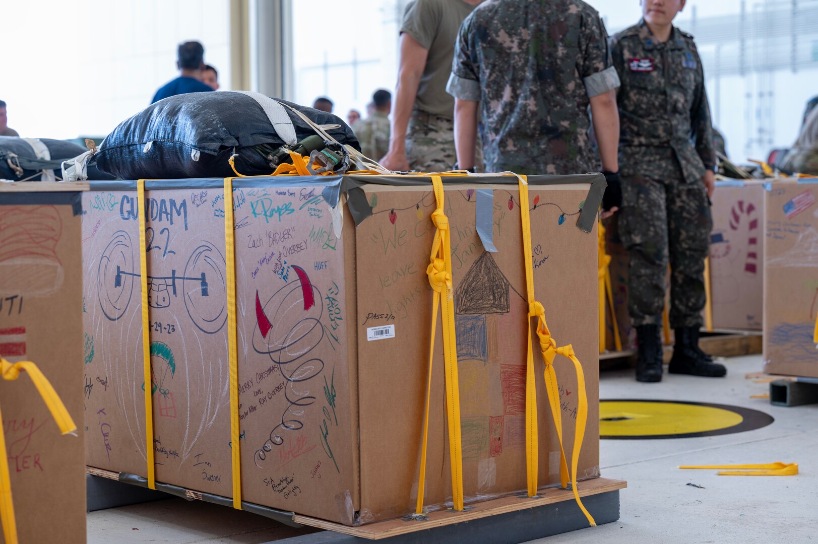
<instances>
[{"instance_id":1,"label":"black parachute bag with white band atop the GUNDAM box","mask_svg":"<svg viewBox=\"0 0 818 544\"><path fill-rule=\"evenodd\" d=\"M258 92L191 92L168 97L120 123L93 157L120 179L227 178L272 173L282 146L324 133L360 151L339 117ZM326 136L331 138L326 138ZM333 142L333 143L335 143ZM93 162L92 160L92 162Z\"/></svg>"}]
</instances>

